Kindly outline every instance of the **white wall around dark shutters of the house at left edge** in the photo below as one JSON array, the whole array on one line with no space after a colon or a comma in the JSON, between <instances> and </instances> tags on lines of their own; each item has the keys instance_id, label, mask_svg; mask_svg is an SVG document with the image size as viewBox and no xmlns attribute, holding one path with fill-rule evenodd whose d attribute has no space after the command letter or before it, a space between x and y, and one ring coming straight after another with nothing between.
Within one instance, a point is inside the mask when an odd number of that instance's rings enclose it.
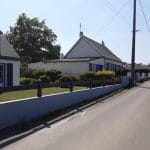
<instances>
[{"instance_id":1,"label":"white wall around dark shutters of the house at left edge","mask_svg":"<svg viewBox=\"0 0 150 150\"><path fill-rule=\"evenodd\" d=\"M0 59L0 63L13 64L13 86L19 85L20 80L20 61Z\"/></svg>"}]
</instances>

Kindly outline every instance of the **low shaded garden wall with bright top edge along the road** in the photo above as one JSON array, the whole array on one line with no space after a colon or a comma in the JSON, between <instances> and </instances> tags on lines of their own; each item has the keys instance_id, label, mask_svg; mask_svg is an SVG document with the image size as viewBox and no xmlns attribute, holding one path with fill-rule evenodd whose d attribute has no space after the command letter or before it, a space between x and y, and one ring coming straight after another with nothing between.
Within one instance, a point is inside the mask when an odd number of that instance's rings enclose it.
<instances>
[{"instance_id":1,"label":"low shaded garden wall with bright top edge along the road","mask_svg":"<svg viewBox=\"0 0 150 150\"><path fill-rule=\"evenodd\" d=\"M0 129L116 91L125 85L125 81L124 84L0 103Z\"/></svg>"}]
</instances>

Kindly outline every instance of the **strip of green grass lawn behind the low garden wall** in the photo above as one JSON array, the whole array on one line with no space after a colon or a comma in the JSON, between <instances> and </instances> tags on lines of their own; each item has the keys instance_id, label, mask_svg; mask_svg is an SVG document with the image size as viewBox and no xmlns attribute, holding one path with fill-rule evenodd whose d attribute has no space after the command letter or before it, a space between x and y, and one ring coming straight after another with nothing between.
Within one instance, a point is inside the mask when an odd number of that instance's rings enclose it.
<instances>
[{"instance_id":1,"label":"strip of green grass lawn behind the low garden wall","mask_svg":"<svg viewBox=\"0 0 150 150\"><path fill-rule=\"evenodd\" d=\"M82 90L86 87L74 87L73 90ZM49 95L49 94L56 94L56 93L62 93L62 92L68 92L68 88L43 88L42 95ZM10 100L17 100L22 98L29 98L29 97L36 97L37 96L37 90L22 90L22 91L13 91L13 92L4 92L0 94L0 102L4 101L10 101Z\"/></svg>"}]
</instances>

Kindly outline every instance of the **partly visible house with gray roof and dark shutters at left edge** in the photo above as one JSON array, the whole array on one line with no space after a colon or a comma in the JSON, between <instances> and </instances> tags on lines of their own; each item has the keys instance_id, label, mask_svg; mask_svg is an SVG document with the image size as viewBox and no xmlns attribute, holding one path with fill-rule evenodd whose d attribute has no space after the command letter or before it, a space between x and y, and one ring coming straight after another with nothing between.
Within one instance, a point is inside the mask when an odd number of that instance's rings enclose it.
<instances>
[{"instance_id":1,"label":"partly visible house with gray roof and dark shutters at left edge","mask_svg":"<svg viewBox=\"0 0 150 150\"><path fill-rule=\"evenodd\" d=\"M0 87L19 85L20 56L0 31Z\"/></svg>"}]
</instances>

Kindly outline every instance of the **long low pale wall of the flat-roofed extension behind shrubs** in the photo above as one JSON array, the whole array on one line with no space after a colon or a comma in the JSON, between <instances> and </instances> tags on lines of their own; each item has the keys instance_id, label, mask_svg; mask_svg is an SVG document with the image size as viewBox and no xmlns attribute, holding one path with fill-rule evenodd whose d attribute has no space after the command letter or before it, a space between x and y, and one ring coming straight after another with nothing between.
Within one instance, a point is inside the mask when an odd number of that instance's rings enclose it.
<instances>
[{"instance_id":1,"label":"long low pale wall of the flat-roofed extension behind shrubs","mask_svg":"<svg viewBox=\"0 0 150 150\"><path fill-rule=\"evenodd\" d=\"M79 76L80 74L86 73L89 71L89 62L38 62L31 63L28 65L28 68L32 69L45 69L45 70L59 70L63 74L70 76Z\"/></svg>"}]
</instances>

